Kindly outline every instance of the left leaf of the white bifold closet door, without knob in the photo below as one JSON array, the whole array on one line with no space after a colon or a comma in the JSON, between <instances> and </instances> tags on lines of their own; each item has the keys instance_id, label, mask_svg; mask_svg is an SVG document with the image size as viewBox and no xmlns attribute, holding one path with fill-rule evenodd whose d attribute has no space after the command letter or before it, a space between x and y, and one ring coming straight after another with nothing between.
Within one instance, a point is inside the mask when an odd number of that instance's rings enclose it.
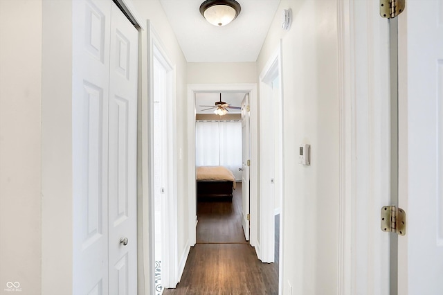
<instances>
[{"instance_id":1,"label":"left leaf of the white bifold closet door, without knob","mask_svg":"<svg viewBox=\"0 0 443 295\"><path fill-rule=\"evenodd\" d=\"M110 17L109 0L73 1L73 294L108 294Z\"/></svg>"}]
</instances>

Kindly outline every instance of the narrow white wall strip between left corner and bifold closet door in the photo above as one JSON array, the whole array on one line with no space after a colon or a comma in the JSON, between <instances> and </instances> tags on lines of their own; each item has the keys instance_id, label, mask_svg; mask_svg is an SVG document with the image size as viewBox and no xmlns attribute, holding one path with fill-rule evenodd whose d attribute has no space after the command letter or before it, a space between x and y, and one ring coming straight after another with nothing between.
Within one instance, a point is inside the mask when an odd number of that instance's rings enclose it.
<instances>
[{"instance_id":1,"label":"narrow white wall strip between left corner and bifold closet door","mask_svg":"<svg viewBox=\"0 0 443 295\"><path fill-rule=\"evenodd\" d=\"M73 265L72 2L43 0L42 3L41 294L70 294Z\"/></svg>"}]
</instances>

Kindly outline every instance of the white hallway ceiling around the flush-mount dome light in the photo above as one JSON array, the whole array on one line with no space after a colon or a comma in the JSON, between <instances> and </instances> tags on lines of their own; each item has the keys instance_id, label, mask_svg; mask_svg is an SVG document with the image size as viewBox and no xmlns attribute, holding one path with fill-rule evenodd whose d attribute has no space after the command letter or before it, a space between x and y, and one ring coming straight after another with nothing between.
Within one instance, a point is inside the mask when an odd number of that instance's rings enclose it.
<instances>
[{"instance_id":1,"label":"white hallway ceiling around the flush-mount dome light","mask_svg":"<svg viewBox=\"0 0 443 295\"><path fill-rule=\"evenodd\" d=\"M242 11L226 26L201 16L204 0L160 0L188 62L255 62L280 0L237 0Z\"/></svg>"}]
</instances>

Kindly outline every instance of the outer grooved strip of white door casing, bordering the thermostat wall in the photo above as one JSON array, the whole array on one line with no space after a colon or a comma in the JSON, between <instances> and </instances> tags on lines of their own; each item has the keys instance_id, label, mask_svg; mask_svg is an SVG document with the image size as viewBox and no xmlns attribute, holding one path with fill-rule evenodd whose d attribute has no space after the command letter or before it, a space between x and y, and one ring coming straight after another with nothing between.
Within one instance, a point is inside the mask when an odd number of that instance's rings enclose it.
<instances>
[{"instance_id":1,"label":"outer grooved strip of white door casing, bordering the thermostat wall","mask_svg":"<svg viewBox=\"0 0 443 295\"><path fill-rule=\"evenodd\" d=\"M338 100L339 100L339 191L338 191L338 271L336 294L352 294L352 88L354 51L352 39L353 0L338 1Z\"/></svg>"}]
</instances>

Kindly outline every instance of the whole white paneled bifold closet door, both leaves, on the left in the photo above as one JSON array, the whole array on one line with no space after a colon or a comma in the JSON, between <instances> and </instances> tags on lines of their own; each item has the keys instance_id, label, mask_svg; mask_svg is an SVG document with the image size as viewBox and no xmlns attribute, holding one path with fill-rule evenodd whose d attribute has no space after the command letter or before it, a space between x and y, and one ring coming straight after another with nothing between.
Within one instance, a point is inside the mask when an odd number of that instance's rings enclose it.
<instances>
[{"instance_id":1,"label":"whole white paneled bifold closet door, both leaves, on the left","mask_svg":"<svg viewBox=\"0 0 443 295\"><path fill-rule=\"evenodd\" d=\"M73 294L136 294L137 65L116 5L73 1Z\"/></svg>"}]
</instances>

